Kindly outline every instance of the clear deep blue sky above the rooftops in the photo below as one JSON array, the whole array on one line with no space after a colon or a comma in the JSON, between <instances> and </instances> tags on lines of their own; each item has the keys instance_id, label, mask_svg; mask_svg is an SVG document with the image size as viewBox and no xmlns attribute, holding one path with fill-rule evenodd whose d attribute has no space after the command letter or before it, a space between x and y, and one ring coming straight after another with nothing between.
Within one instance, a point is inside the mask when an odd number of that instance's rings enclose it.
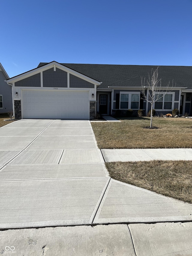
<instances>
[{"instance_id":1,"label":"clear deep blue sky above the rooftops","mask_svg":"<svg viewBox=\"0 0 192 256\"><path fill-rule=\"evenodd\" d=\"M40 62L192 65L192 0L0 0L9 77Z\"/></svg>"}]
</instances>

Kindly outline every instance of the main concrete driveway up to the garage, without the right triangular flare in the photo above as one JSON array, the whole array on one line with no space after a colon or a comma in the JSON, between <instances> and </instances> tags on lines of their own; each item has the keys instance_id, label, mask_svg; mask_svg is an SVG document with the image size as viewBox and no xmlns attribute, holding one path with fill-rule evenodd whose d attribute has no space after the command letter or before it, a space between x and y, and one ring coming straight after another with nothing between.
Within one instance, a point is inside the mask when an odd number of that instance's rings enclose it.
<instances>
[{"instance_id":1,"label":"main concrete driveway up to the garage, without the right triangular flare","mask_svg":"<svg viewBox=\"0 0 192 256\"><path fill-rule=\"evenodd\" d=\"M0 228L92 224L109 180L87 120L0 128Z\"/></svg>"}]
</instances>

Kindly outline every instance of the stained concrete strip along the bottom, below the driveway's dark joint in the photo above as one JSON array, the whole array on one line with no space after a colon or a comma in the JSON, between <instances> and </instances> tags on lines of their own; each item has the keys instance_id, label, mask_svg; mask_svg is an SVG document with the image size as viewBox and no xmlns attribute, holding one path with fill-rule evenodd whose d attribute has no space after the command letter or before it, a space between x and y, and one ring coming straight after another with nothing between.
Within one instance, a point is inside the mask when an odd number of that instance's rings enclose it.
<instances>
[{"instance_id":1,"label":"stained concrete strip along the bottom, below the driveway's dark joint","mask_svg":"<svg viewBox=\"0 0 192 256\"><path fill-rule=\"evenodd\" d=\"M0 231L0 254L192 255L192 223L114 224Z\"/></svg>"}]
</instances>

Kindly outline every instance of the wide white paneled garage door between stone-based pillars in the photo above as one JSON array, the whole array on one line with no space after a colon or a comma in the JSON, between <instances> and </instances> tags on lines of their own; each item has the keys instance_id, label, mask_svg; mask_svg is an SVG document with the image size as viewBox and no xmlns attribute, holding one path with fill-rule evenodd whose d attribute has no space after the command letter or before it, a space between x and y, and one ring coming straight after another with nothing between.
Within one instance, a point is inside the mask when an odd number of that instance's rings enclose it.
<instances>
[{"instance_id":1,"label":"wide white paneled garage door between stone-based pillars","mask_svg":"<svg viewBox=\"0 0 192 256\"><path fill-rule=\"evenodd\" d=\"M22 90L22 118L88 119L89 92Z\"/></svg>"}]
</instances>

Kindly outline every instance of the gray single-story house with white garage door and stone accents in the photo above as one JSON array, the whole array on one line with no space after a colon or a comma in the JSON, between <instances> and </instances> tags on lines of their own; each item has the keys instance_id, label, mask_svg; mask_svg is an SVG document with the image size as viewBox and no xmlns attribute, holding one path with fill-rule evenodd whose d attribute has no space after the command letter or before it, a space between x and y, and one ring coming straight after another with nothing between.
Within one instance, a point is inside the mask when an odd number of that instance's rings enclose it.
<instances>
[{"instance_id":1,"label":"gray single-story house with white garage door and stone accents","mask_svg":"<svg viewBox=\"0 0 192 256\"><path fill-rule=\"evenodd\" d=\"M141 77L157 66L40 63L12 77L16 118L93 119L95 113L113 115L120 109L147 114L150 103L142 99ZM162 89L172 80L176 87L153 106L157 113L174 108L192 115L192 67L160 66ZM146 95L149 89L146 85ZM164 92L162 92L164 94Z\"/></svg>"}]
</instances>

